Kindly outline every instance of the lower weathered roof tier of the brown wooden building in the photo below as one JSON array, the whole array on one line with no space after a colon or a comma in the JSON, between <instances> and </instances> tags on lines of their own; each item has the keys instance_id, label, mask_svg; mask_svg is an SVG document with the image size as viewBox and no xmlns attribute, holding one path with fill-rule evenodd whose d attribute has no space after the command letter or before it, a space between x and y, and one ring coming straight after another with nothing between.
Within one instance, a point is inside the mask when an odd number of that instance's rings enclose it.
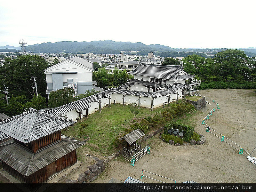
<instances>
[{"instance_id":1,"label":"lower weathered roof tier of the brown wooden building","mask_svg":"<svg viewBox=\"0 0 256 192\"><path fill-rule=\"evenodd\" d=\"M22 175L28 176L84 144L83 141L61 135L61 141L32 153L23 146L12 143L0 147L0 159Z\"/></svg>"}]
</instances>

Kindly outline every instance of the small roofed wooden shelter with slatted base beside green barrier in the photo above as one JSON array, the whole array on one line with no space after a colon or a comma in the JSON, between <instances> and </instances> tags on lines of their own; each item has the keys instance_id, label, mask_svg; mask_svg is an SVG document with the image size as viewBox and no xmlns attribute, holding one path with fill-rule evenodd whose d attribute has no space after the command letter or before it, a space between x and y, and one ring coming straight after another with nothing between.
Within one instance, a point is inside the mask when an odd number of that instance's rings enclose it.
<instances>
[{"instance_id":1,"label":"small roofed wooden shelter with slatted base beside green barrier","mask_svg":"<svg viewBox=\"0 0 256 192\"><path fill-rule=\"evenodd\" d=\"M119 138L119 140L126 140L127 141L127 147L123 148L123 157L131 161L132 156L137 154L140 151L140 145L137 144L137 140L143 137L145 134L140 131L140 129L136 129L124 137Z\"/></svg>"}]
</instances>

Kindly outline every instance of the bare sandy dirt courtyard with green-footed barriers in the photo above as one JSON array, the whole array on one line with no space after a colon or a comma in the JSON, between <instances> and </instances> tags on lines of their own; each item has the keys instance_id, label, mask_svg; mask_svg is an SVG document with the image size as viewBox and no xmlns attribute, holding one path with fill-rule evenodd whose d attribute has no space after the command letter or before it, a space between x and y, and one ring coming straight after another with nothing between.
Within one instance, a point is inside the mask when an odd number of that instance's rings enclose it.
<instances>
[{"instance_id":1,"label":"bare sandy dirt courtyard with green-footed barriers","mask_svg":"<svg viewBox=\"0 0 256 192\"><path fill-rule=\"evenodd\" d=\"M219 102L220 109L207 120L208 126L251 153L256 146L256 95L253 90L219 89L203 90L201 95ZM199 183L255 183L256 166L239 151L221 142L210 132L205 132L203 118L212 110L214 104L207 104L194 118L195 131L206 137L203 145L172 146L158 139L158 135L144 141L142 147L150 145L150 155L138 160L134 167L119 157L108 163L94 183L106 183L112 177L124 181L128 176L140 179L145 170L162 175L178 183L194 180ZM239 147L236 147L239 148ZM245 154L245 153L244 153ZM245 154L246 155L246 154ZM252 156L256 156L256 150ZM173 182L144 172L144 175L164 182ZM157 181L143 177L143 182Z\"/></svg>"}]
</instances>

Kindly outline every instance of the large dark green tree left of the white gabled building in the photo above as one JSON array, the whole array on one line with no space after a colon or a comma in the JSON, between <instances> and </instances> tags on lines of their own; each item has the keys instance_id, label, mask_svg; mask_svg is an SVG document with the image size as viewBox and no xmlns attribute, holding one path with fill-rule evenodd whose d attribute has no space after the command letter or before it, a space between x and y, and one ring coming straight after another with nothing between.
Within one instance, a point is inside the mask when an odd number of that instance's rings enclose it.
<instances>
[{"instance_id":1,"label":"large dark green tree left of the white gabled building","mask_svg":"<svg viewBox=\"0 0 256 192\"><path fill-rule=\"evenodd\" d=\"M46 96L46 81L44 70L48 62L38 55L21 55L17 59L6 58L0 66L0 83L9 88L9 94L34 96L34 87L31 77L36 76L37 91Z\"/></svg>"}]
</instances>

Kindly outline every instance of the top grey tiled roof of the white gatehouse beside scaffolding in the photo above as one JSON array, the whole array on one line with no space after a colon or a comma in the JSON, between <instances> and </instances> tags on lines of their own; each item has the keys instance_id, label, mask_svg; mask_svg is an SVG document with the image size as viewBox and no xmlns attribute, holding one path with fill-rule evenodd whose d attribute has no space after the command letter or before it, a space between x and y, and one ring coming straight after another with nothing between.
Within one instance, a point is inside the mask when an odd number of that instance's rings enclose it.
<instances>
[{"instance_id":1,"label":"top grey tiled roof of the white gatehouse beside scaffolding","mask_svg":"<svg viewBox=\"0 0 256 192\"><path fill-rule=\"evenodd\" d=\"M179 76L182 71L186 74L185 76ZM187 74L181 65L155 65L141 63L136 69L128 71L127 73L165 80L185 80L194 77L193 75Z\"/></svg>"}]
</instances>

